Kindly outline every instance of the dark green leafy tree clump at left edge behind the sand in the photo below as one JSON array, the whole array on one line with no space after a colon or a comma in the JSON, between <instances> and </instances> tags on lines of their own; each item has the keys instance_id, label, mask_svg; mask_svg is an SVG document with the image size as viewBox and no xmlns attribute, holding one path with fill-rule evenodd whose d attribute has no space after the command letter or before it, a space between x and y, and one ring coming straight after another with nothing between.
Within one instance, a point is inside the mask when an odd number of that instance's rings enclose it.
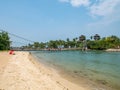
<instances>
[{"instance_id":1,"label":"dark green leafy tree clump at left edge behind the sand","mask_svg":"<svg viewBox=\"0 0 120 90\"><path fill-rule=\"evenodd\" d=\"M7 32L0 32L0 50L10 49L10 38Z\"/></svg>"}]
</instances>

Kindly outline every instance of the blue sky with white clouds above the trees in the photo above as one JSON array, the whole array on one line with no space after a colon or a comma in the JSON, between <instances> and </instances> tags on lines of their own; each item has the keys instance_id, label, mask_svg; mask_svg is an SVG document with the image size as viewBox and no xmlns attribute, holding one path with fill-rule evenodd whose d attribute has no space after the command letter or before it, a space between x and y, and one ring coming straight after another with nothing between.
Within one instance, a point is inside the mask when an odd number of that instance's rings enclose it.
<instances>
[{"instance_id":1,"label":"blue sky with white clouds above the trees","mask_svg":"<svg viewBox=\"0 0 120 90\"><path fill-rule=\"evenodd\" d=\"M0 0L0 29L39 42L120 37L120 0Z\"/></svg>"}]
</instances>

